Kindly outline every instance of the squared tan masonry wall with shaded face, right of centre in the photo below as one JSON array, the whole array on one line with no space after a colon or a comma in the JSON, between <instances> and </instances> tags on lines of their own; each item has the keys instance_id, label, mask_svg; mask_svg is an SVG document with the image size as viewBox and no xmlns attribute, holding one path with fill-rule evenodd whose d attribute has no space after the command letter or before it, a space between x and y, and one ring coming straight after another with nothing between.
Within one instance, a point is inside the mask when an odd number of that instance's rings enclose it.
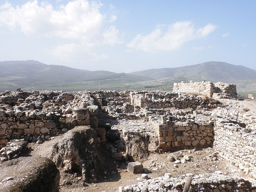
<instances>
[{"instance_id":1,"label":"squared tan masonry wall with shaded face, right of centre","mask_svg":"<svg viewBox=\"0 0 256 192\"><path fill-rule=\"evenodd\" d=\"M154 122L158 134L159 148L172 151L185 146L203 146L213 141L213 122L197 124L195 122L180 122L171 124L162 116L162 122Z\"/></svg>"}]
</instances>

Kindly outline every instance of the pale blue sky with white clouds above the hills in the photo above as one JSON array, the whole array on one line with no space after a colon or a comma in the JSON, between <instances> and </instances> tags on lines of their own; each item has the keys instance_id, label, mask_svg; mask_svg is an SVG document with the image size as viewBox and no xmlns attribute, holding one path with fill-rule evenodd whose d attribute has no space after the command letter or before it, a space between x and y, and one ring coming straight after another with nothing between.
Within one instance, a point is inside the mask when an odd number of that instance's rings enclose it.
<instances>
[{"instance_id":1,"label":"pale blue sky with white clouds above the hills","mask_svg":"<svg viewBox=\"0 0 256 192\"><path fill-rule=\"evenodd\" d=\"M0 0L0 61L133 72L256 69L256 1Z\"/></svg>"}]
</instances>

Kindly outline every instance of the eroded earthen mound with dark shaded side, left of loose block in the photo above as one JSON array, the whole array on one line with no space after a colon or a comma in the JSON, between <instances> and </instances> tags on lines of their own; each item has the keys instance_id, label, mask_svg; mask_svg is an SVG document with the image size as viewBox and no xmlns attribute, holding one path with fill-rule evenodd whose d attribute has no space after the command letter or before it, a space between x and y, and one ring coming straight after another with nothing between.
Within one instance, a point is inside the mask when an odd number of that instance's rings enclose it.
<instances>
[{"instance_id":1,"label":"eroded earthen mound with dark shaded side, left of loose block","mask_svg":"<svg viewBox=\"0 0 256 192\"><path fill-rule=\"evenodd\" d=\"M95 181L100 169L97 132L89 126L76 126L58 138L49 156L65 172L77 172L84 181Z\"/></svg>"}]
</instances>

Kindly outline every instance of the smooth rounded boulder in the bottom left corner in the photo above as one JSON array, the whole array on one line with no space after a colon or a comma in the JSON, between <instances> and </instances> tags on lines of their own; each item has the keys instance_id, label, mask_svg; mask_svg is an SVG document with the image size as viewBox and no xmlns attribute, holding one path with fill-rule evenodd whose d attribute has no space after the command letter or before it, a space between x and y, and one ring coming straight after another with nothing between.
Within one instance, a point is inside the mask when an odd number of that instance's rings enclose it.
<instances>
[{"instance_id":1,"label":"smooth rounded boulder in the bottom left corner","mask_svg":"<svg viewBox=\"0 0 256 192\"><path fill-rule=\"evenodd\" d=\"M60 172L46 157L20 157L0 164L0 192L57 192Z\"/></svg>"}]
</instances>

